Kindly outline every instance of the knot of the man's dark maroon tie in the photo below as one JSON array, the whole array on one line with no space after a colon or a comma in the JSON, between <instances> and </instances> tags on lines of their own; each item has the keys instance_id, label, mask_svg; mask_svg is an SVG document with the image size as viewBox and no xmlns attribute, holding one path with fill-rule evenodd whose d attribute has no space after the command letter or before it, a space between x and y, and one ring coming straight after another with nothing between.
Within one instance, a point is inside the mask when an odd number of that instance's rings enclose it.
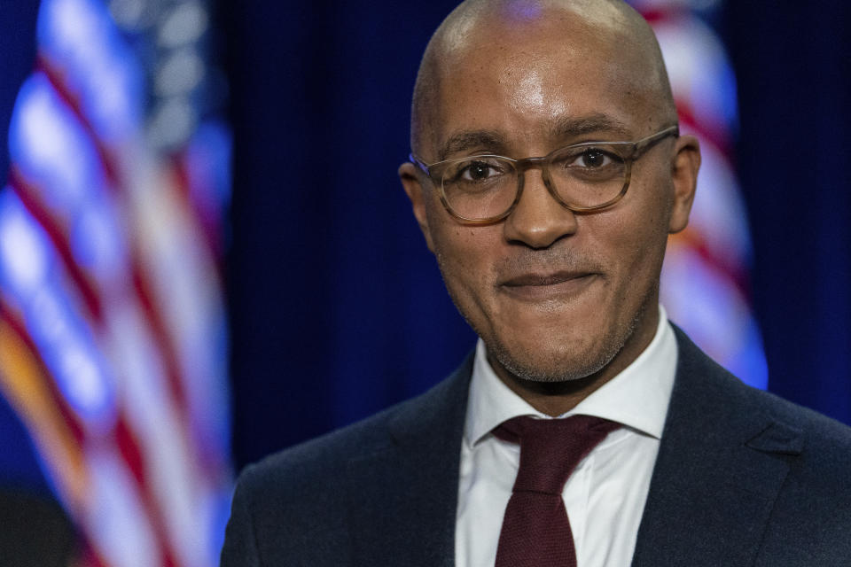
<instances>
[{"instance_id":1,"label":"knot of the man's dark maroon tie","mask_svg":"<svg viewBox=\"0 0 851 567\"><path fill-rule=\"evenodd\" d=\"M520 466L514 492L561 494L576 465L621 427L594 416L570 416L565 419L514 417L499 425L499 439L520 446Z\"/></svg>"}]
</instances>

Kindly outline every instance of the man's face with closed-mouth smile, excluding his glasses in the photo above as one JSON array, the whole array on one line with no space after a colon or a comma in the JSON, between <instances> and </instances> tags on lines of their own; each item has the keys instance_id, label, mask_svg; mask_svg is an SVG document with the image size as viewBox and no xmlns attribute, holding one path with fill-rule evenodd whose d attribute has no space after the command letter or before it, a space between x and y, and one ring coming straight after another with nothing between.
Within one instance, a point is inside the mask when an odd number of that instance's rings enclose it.
<instances>
[{"instance_id":1,"label":"man's face with closed-mouth smile, excluding his glasses","mask_svg":"<svg viewBox=\"0 0 851 567\"><path fill-rule=\"evenodd\" d=\"M520 159L670 126L655 112L647 66L635 68L635 56L601 35L581 25L566 35L563 24L474 31L441 68L420 157ZM541 171L528 170L517 207L487 226L457 221L438 188L401 170L449 294L497 372L587 377L619 355L625 366L650 341L668 232L684 227L691 206L691 192L672 175L678 144L667 139L647 151L633 164L624 198L591 214L559 206Z\"/></svg>"}]
</instances>

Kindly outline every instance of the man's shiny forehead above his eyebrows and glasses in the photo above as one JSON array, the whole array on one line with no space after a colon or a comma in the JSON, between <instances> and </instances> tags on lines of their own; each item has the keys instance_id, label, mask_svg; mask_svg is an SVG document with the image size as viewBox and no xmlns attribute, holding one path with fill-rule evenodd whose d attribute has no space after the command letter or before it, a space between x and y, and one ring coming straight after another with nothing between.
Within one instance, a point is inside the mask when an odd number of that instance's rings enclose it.
<instances>
[{"instance_id":1,"label":"man's shiny forehead above his eyebrows and glasses","mask_svg":"<svg viewBox=\"0 0 851 567\"><path fill-rule=\"evenodd\" d=\"M487 131L505 151L543 151L589 129L629 137L653 119L652 61L617 22L561 12L461 32L447 39L437 81L431 135L439 154L459 132Z\"/></svg>"}]
</instances>

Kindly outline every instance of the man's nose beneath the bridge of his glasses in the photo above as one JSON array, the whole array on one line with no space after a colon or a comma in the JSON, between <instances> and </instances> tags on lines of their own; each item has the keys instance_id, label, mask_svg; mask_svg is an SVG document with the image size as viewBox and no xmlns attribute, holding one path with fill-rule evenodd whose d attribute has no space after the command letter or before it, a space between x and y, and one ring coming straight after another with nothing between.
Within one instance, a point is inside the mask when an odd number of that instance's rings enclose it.
<instances>
[{"instance_id":1,"label":"man's nose beneath the bridge of his glasses","mask_svg":"<svg viewBox=\"0 0 851 567\"><path fill-rule=\"evenodd\" d=\"M504 222L506 239L531 248L546 248L559 238L574 234L576 215L550 195L541 171L530 169L525 175L520 200Z\"/></svg>"}]
</instances>

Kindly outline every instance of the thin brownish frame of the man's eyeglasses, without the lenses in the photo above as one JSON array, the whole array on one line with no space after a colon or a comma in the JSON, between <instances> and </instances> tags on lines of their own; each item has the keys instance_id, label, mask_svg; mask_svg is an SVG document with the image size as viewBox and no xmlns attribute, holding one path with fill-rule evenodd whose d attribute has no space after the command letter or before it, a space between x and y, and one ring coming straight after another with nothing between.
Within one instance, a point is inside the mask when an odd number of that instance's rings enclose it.
<instances>
[{"instance_id":1,"label":"thin brownish frame of the man's eyeglasses, without the lenses","mask_svg":"<svg viewBox=\"0 0 851 567\"><path fill-rule=\"evenodd\" d=\"M556 200L556 202L565 207L569 211L573 211L574 213L590 213L593 211L599 211L605 209L607 207L613 206L615 203L621 200L624 195L627 194L627 190L629 188L629 182L632 176L632 163L637 159L641 158L644 152L650 150L652 146L658 144L668 136L680 136L680 128L678 125L668 126L667 128L662 128L660 131L651 134L650 136L646 136L637 140L635 142L581 142L579 144L568 144L566 146L562 146L553 151L550 151L545 156L537 157L537 158L523 158L523 159L513 159L505 156L496 155L493 153L488 154L476 154L471 156L464 156L462 158L450 158L450 159L441 159L441 161L435 161L432 164L426 164L421 159L418 159L413 153L408 155L408 159L411 163L417 166L423 173L426 174L429 181L433 184L434 187L437 187L437 183L434 183L434 178L432 177L432 169L433 167L441 166L444 164L454 163L457 161L463 161L465 159L474 159L474 158L497 158L504 159L506 161L511 162L512 167L517 172L517 190L514 195L514 200L511 202L511 205L508 206L508 209L503 214L498 214L493 217L488 217L487 219L471 219L467 218L461 214L457 214L456 211L452 209L452 206L449 205L449 200L446 197L446 190L443 187L443 177L441 176L440 183L440 194L441 204L443 208L447 210L447 212L455 217L459 221L465 222L468 225L485 225L492 224L499 221L503 221L508 218L508 216L514 211L514 208L520 201L520 197L523 195L523 185L526 179L526 175L523 175L527 169L532 167L540 167L541 175L543 177L543 184L547 188L547 191L550 193L552 198ZM550 178L550 164L549 159L552 158L553 155L557 154L560 151L565 151L567 148L581 148L583 146L595 146L595 145L607 145L607 146L619 146L619 147L627 147L631 148L627 155L622 156L624 164L624 173L623 173L623 187L621 187L621 191L613 198L609 199L602 205L595 206L576 206L571 205L570 203L566 203L561 197L559 197L558 192L554 189L554 184Z\"/></svg>"}]
</instances>

